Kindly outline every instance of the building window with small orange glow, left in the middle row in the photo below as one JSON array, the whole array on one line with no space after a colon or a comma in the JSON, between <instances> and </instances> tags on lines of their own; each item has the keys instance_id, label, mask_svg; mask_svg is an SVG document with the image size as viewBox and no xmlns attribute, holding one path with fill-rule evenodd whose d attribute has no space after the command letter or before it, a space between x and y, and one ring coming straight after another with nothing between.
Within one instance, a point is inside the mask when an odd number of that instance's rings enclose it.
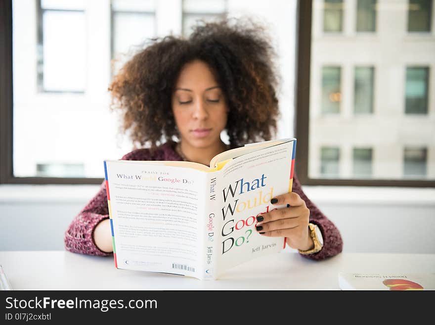
<instances>
[{"instance_id":1,"label":"building window with small orange glow, left in the middle row","mask_svg":"<svg viewBox=\"0 0 435 325\"><path fill-rule=\"evenodd\" d=\"M341 68L322 68L322 113L340 113L341 102Z\"/></svg>"}]
</instances>

